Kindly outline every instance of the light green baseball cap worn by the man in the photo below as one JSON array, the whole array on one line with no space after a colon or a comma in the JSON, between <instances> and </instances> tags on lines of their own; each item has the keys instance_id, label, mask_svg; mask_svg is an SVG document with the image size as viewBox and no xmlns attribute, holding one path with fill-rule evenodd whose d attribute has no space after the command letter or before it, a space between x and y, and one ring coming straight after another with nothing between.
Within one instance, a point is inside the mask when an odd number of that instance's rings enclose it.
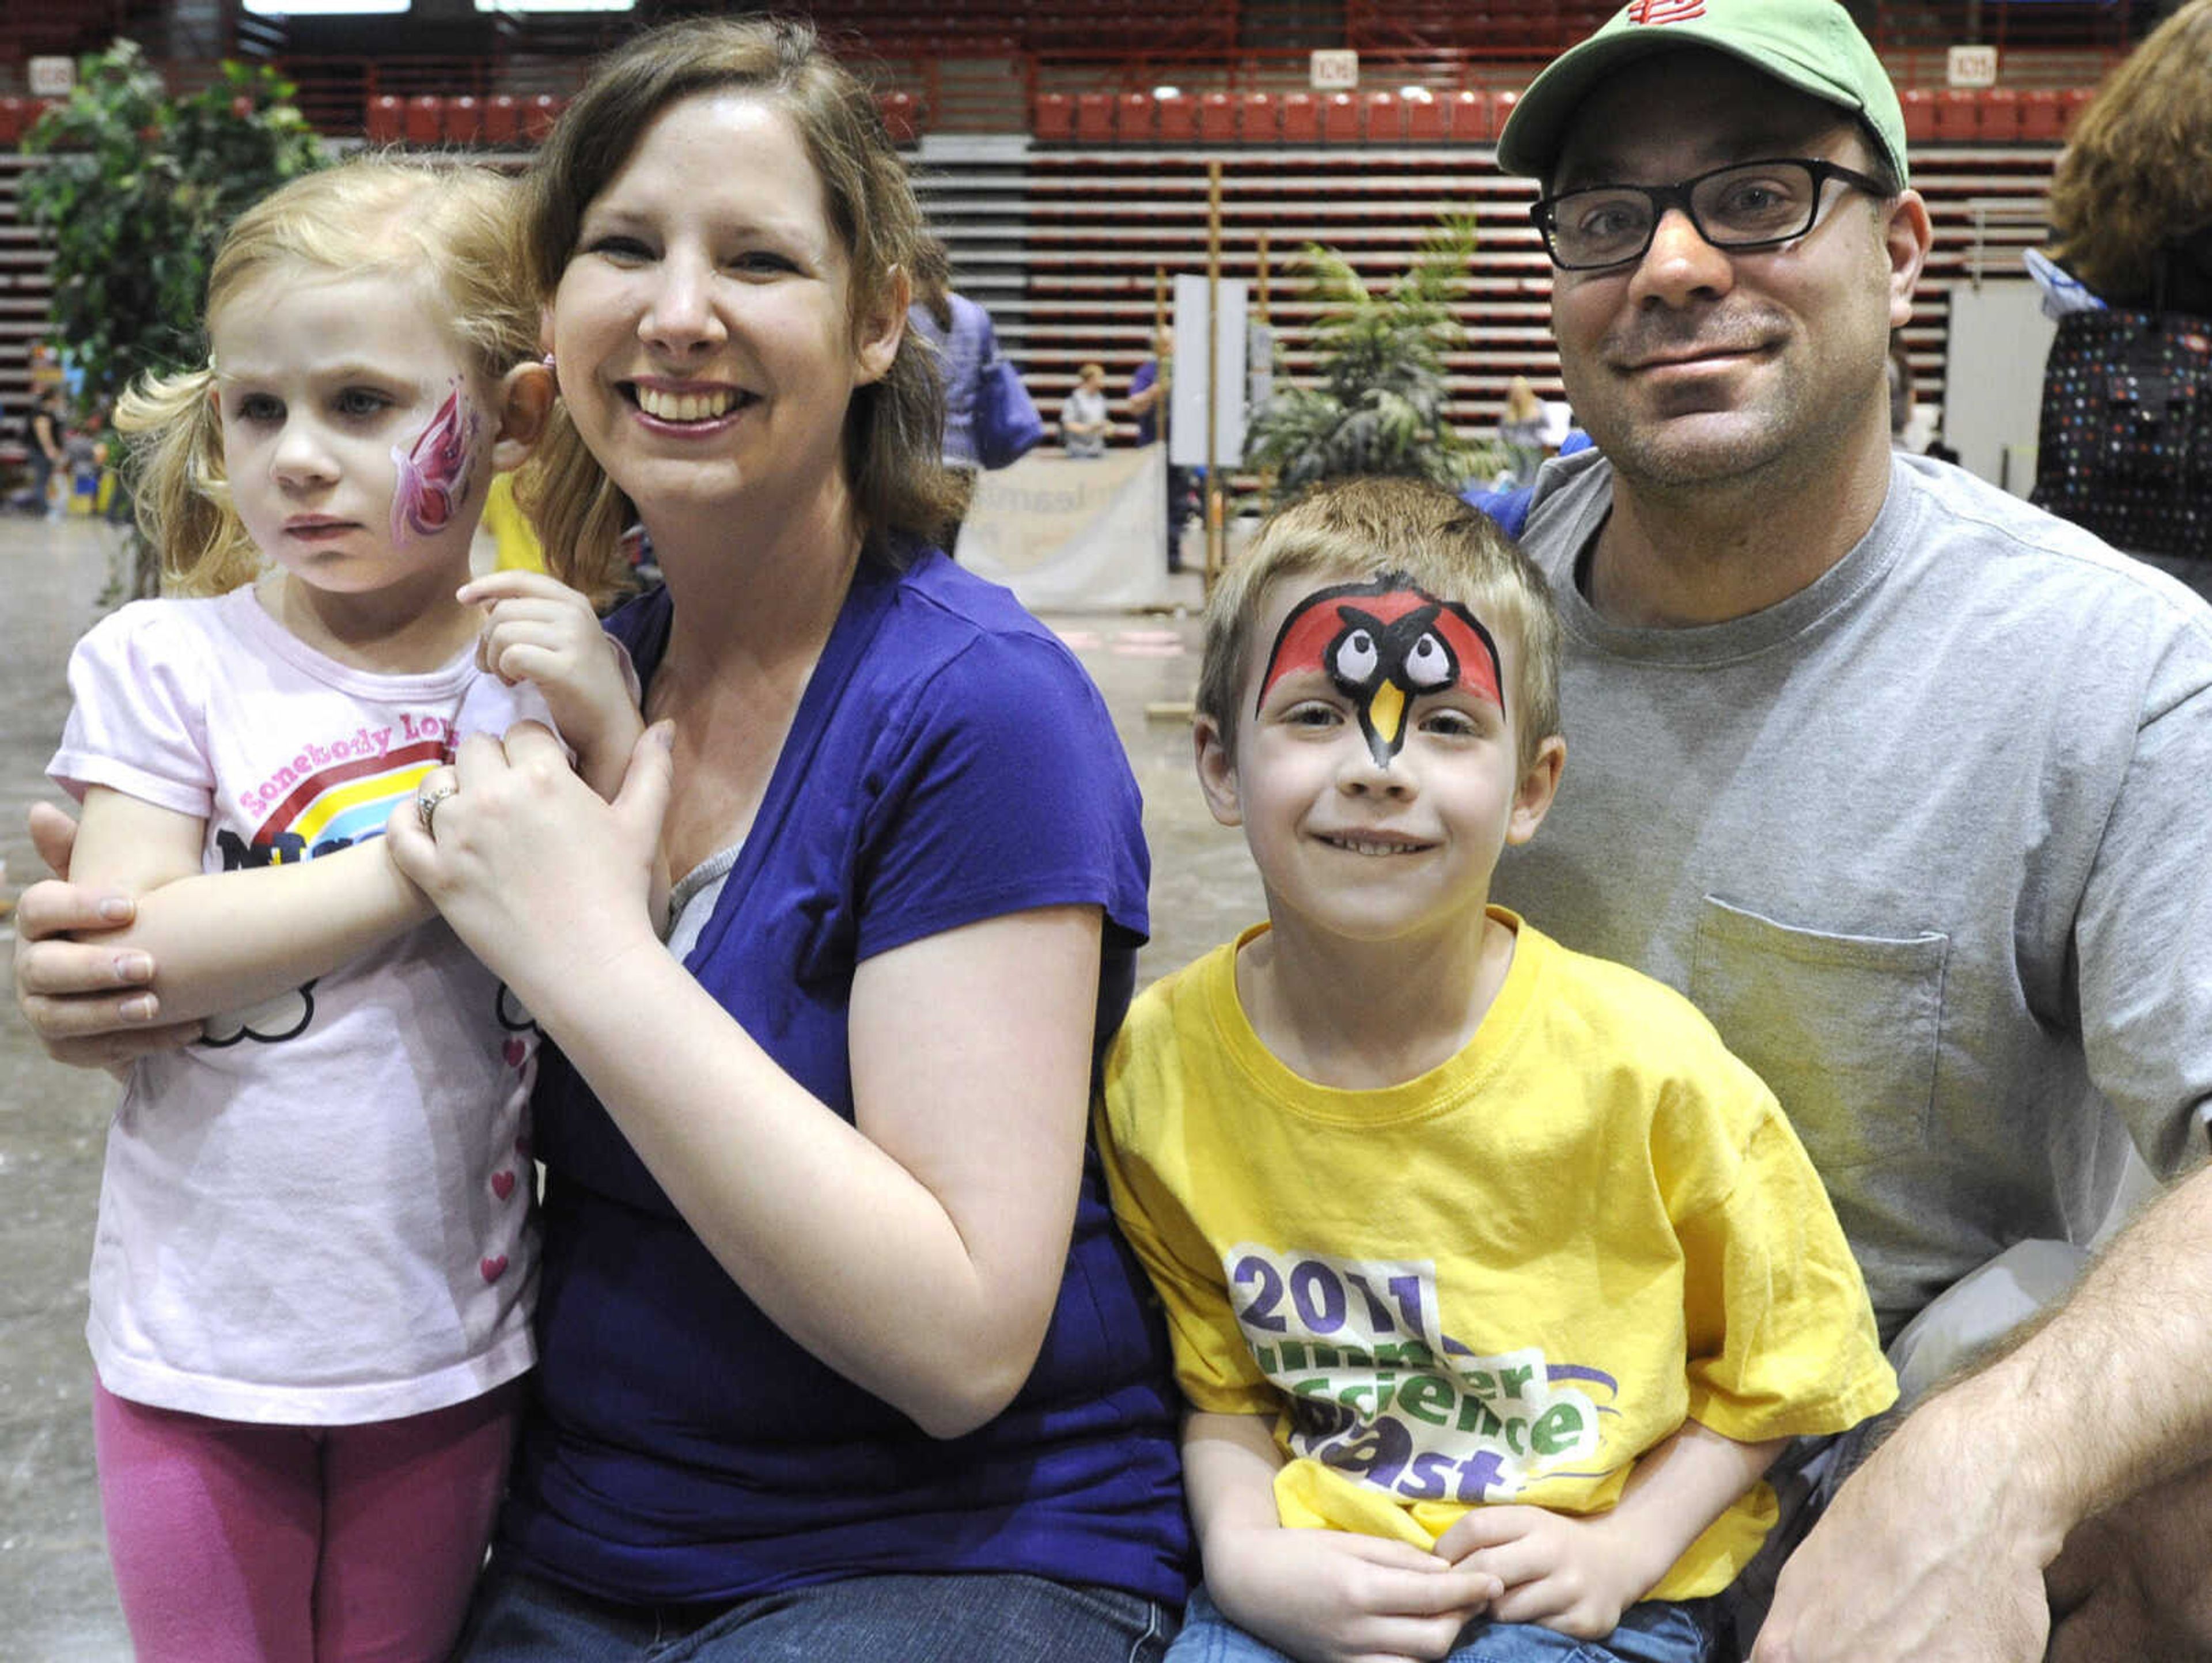
<instances>
[{"instance_id":1,"label":"light green baseball cap worn by the man","mask_svg":"<svg viewBox=\"0 0 2212 1663\"><path fill-rule=\"evenodd\" d=\"M1865 117L1898 184L1909 177L1898 88L1838 0L1630 0L1528 84L1498 135L1498 166L1542 179L1559 159L1568 122L1601 80L1639 57L1686 46L1728 53L1783 86Z\"/></svg>"}]
</instances>

